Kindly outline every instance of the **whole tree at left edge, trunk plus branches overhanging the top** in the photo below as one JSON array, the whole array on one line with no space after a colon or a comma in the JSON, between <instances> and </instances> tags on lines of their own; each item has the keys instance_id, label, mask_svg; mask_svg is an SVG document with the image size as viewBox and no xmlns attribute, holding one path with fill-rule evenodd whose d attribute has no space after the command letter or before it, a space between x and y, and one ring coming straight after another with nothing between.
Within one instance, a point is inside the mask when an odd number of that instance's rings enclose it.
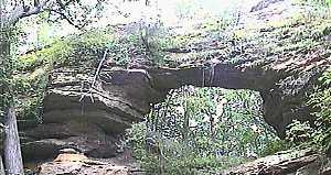
<instances>
[{"instance_id":1,"label":"whole tree at left edge, trunk plus branches overhanging the top","mask_svg":"<svg viewBox=\"0 0 331 175\"><path fill-rule=\"evenodd\" d=\"M3 154L8 175L24 174L12 87L14 56L11 51L15 25L23 18L47 12L53 19L64 19L75 28L82 29L97 15L93 14L92 8L103 9L102 1L95 1L94 6L88 3L84 4L79 0L0 0L0 116L3 117L4 123Z\"/></svg>"}]
</instances>

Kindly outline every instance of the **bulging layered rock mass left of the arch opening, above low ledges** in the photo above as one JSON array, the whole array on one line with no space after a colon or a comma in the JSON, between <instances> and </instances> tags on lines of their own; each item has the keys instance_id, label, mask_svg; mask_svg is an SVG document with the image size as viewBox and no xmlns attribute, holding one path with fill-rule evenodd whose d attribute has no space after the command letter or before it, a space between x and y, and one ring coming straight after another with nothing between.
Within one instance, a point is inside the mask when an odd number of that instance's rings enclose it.
<instances>
[{"instance_id":1,"label":"bulging layered rock mass left of the arch opening, above low ledges","mask_svg":"<svg viewBox=\"0 0 331 175\"><path fill-rule=\"evenodd\" d=\"M147 73L139 70L103 72L102 81L92 88L88 78L74 69L52 73L44 100L44 122L81 120L95 123L107 133L119 133L140 121L156 95ZM109 79L107 79L109 78Z\"/></svg>"}]
</instances>

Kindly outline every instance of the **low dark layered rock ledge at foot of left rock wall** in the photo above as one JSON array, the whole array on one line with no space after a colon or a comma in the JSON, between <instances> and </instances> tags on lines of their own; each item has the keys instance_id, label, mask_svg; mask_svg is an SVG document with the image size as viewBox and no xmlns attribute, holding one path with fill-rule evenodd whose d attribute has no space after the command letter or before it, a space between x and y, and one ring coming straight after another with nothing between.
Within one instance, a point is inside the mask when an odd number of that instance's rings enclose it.
<instances>
[{"instance_id":1,"label":"low dark layered rock ledge at foot of left rock wall","mask_svg":"<svg viewBox=\"0 0 331 175\"><path fill-rule=\"evenodd\" d=\"M43 123L25 131L30 142L23 143L24 158L54 157L63 149L74 149L90 157L113 157L121 149L118 138L106 134L102 128L84 121Z\"/></svg>"}]
</instances>

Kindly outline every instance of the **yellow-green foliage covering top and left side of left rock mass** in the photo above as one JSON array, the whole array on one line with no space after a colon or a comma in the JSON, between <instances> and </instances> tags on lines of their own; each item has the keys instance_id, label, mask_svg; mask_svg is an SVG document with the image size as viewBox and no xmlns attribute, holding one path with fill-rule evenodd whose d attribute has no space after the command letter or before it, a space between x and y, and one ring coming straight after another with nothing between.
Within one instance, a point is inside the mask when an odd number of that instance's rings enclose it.
<instances>
[{"instance_id":1,"label":"yellow-green foliage covering top and left side of left rock mass","mask_svg":"<svg viewBox=\"0 0 331 175\"><path fill-rule=\"evenodd\" d=\"M111 33L89 31L56 39L43 50L19 56L12 79L19 118L42 121L42 101L49 84L49 72L60 66L78 67L82 72L90 69L90 64L97 62L111 40Z\"/></svg>"}]
</instances>

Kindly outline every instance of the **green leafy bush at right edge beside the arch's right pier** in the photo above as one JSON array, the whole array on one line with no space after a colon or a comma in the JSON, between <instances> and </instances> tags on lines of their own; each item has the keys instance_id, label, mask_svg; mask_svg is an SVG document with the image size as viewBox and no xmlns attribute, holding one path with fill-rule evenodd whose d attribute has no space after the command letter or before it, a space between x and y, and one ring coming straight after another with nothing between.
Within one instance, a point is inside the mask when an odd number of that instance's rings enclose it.
<instances>
[{"instance_id":1,"label":"green leafy bush at right edge beside the arch's right pier","mask_svg":"<svg viewBox=\"0 0 331 175\"><path fill-rule=\"evenodd\" d=\"M320 85L309 95L307 102L316 118L314 123L293 121L286 135L292 145L313 145L325 152L331 145L331 70L325 70L319 80Z\"/></svg>"}]
</instances>

